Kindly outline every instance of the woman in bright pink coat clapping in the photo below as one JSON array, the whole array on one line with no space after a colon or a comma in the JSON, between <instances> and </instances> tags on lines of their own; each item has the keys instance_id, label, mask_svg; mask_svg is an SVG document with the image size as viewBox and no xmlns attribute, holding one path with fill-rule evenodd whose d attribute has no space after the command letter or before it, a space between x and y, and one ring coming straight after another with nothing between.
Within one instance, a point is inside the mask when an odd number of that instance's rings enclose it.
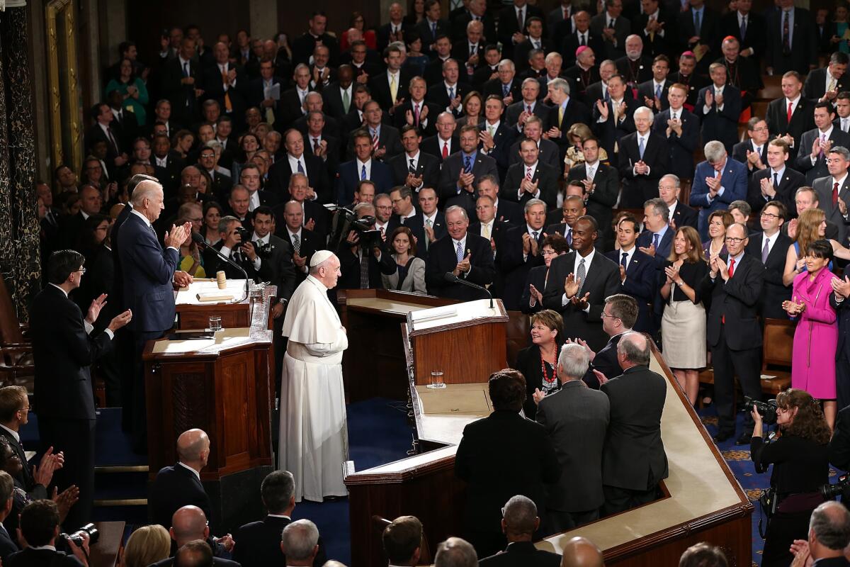
<instances>
[{"instance_id":1,"label":"woman in bright pink coat clapping","mask_svg":"<svg viewBox=\"0 0 850 567\"><path fill-rule=\"evenodd\" d=\"M836 312L830 307L830 281L827 268L832 259L829 241L813 241L806 247L806 271L794 278L791 301L782 309L798 321L794 332L791 360L791 387L806 390L824 402L826 422L836 422Z\"/></svg>"}]
</instances>

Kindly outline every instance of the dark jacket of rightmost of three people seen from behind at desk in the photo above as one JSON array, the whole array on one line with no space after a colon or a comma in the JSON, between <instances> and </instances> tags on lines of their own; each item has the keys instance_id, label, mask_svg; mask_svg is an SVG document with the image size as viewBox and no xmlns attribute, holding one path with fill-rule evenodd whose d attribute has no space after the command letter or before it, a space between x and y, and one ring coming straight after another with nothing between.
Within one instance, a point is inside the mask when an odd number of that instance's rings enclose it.
<instances>
[{"instance_id":1,"label":"dark jacket of rightmost of three people seen from behind at desk","mask_svg":"<svg viewBox=\"0 0 850 567\"><path fill-rule=\"evenodd\" d=\"M667 478L661 413L667 382L646 366L633 366L599 387L611 404L602 482L648 490Z\"/></svg>"}]
</instances>

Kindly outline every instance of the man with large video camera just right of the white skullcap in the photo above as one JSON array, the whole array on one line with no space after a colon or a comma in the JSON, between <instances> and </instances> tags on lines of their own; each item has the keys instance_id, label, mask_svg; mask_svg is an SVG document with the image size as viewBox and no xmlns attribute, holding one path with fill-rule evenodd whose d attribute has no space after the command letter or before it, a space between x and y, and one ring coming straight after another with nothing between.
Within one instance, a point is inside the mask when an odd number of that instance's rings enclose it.
<instances>
[{"instance_id":1,"label":"man with large video camera just right of the white skullcap","mask_svg":"<svg viewBox=\"0 0 850 567\"><path fill-rule=\"evenodd\" d=\"M354 215L357 220L337 248L343 272L337 289L381 289L382 240L379 232L368 232L375 229L375 206L358 203Z\"/></svg>"}]
</instances>

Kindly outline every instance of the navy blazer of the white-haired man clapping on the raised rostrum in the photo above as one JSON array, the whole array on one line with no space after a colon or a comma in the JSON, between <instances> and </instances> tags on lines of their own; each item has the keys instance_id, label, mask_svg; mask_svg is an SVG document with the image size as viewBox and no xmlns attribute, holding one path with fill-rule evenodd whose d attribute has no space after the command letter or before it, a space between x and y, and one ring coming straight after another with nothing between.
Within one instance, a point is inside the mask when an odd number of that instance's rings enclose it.
<instances>
[{"instance_id":1,"label":"navy blazer of the white-haired man clapping on the raised rostrum","mask_svg":"<svg viewBox=\"0 0 850 567\"><path fill-rule=\"evenodd\" d=\"M134 332L162 332L174 325L172 280L179 254L163 250L153 230L136 214L121 225L119 251L124 275L124 304L133 310Z\"/></svg>"}]
</instances>

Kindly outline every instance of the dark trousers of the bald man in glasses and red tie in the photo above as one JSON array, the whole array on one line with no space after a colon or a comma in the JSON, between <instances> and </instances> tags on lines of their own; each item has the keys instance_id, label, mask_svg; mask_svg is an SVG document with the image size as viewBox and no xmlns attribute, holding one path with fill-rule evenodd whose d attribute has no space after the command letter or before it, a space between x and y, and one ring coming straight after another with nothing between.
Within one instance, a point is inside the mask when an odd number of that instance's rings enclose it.
<instances>
[{"instance_id":1,"label":"dark trousers of the bald man in glasses and red tie","mask_svg":"<svg viewBox=\"0 0 850 567\"><path fill-rule=\"evenodd\" d=\"M753 400L762 399L761 347L758 349L732 350L726 344L726 330L720 328L720 340L711 348L714 365L714 401L717 404L717 430L719 434L734 434L735 431L735 376L744 390L744 395ZM745 411L744 423L752 423L750 413Z\"/></svg>"}]
</instances>

